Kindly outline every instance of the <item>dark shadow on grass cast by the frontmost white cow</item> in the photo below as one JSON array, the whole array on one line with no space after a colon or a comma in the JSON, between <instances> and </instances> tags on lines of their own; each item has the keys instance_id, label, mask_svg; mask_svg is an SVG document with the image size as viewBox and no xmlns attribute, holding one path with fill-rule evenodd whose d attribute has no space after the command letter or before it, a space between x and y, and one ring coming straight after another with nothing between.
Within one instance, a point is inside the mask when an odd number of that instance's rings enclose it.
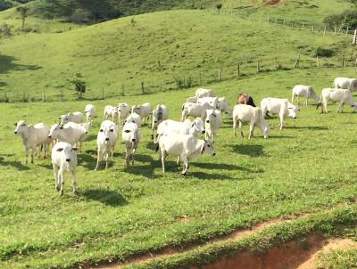
<instances>
[{"instance_id":1,"label":"dark shadow on grass cast by the frontmost white cow","mask_svg":"<svg viewBox=\"0 0 357 269\"><path fill-rule=\"evenodd\" d=\"M120 192L89 189L84 192L79 192L79 195L86 200L96 200L110 207L120 207L128 204L128 201L120 194Z\"/></svg>"}]
</instances>

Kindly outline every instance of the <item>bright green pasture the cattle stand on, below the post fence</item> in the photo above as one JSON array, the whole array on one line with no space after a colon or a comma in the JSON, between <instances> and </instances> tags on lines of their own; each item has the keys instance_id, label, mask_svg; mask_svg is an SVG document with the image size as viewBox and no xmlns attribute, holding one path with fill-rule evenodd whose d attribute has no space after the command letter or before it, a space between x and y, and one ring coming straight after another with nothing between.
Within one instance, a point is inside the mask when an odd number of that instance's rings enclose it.
<instances>
[{"instance_id":1,"label":"bright green pasture the cattle stand on, below the post fence","mask_svg":"<svg viewBox=\"0 0 357 269\"><path fill-rule=\"evenodd\" d=\"M267 96L290 99L291 87L298 83L311 84L320 94L341 74L353 76L355 69L277 71L206 87L226 96L232 107L243 91L252 94L256 103ZM193 94L194 89L188 89L120 100L1 104L0 267L71 268L107 260L124 262L168 246L185 248L210 241L271 219L312 214L243 242L209 244L178 257L129 265L174 268L207 262L233 249L268 248L310 232L336 235L341 224L355 224L356 114L349 107L337 114L336 105L330 105L330 113L321 115L311 102L301 108L298 118L287 119L282 131L278 118L269 119L271 133L266 140L259 129L250 141L234 137L231 119L225 115L215 143L217 155L192 162L185 177L179 175L173 158L162 174L145 125L133 167L125 167L124 148L118 143L109 169L93 171L104 105L164 103L170 118L179 119L182 102ZM13 123L25 119L52 125L63 112L84 110L88 102L95 105L98 118L79 153L79 194L71 193L67 180L60 197L54 191L49 159L24 165L21 138L13 135ZM247 130L245 126L245 135ZM356 231L350 228L341 234L355 238ZM345 254L351 263L353 253ZM322 262L334 264L338 258L331 254Z\"/></svg>"}]
</instances>

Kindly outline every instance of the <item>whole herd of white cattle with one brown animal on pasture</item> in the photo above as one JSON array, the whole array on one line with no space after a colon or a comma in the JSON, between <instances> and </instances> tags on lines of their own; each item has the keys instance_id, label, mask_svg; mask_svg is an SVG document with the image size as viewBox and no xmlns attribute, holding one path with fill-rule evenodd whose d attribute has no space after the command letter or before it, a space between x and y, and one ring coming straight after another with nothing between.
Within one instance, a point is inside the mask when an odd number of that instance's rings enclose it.
<instances>
[{"instance_id":1,"label":"whole herd of white cattle with one brown animal on pasture","mask_svg":"<svg viewBox=\"0 0 357 269\"><path fill-rule=\"evenodd\" d=\"M339 102L338 110L342 112L343 105L351 105L357 110L357 102L353 101L352 91L357 90L357 80L347 77L336 77L334 88L325 88L320 98L311 86L298 85L293 88L292 100L279 98L264 98L261 107L256 107L253 98L248 94L239 94L233 111L229 110L228 102L224 97L215 97L212 89L199 88L195 96L188 97L182 105L181 120L169 119L169 111L163 104L152 109L150 103L135 105L129 108L127 103L117 106L107 105L104 108L104 120L96 138L97 161L95 170L100 161L105 160L105 168L112 158L115 145L119 139L119 126L122 126L121 139L125 144L126 164L134 164L134 156L141 140L140 127L151 118L152 139L157 144L162 172L165 172L165 159L168 155L182 159L184 163L182 175L187 173L188 161L199 158L203 153L215 155L213 143L222 124L222 112L233 118L234 135L237 125L242 133L242 124L249 123L249 139L253 136L255 126L262 130L264 138L268 138L270 127L265 118L269 114L278 114L280 130L284 118L296 118L299 108L294 105L295 99L305 98L304 105L309 99L317 102L321 111L327 113L328 101ZM86 115L87 122L82 123ZM77 149L86 140L87 132L96 118L95 107L87 104L85 115L82 112L70 112L60 116L60 123L48 127L43 123L28 125L24 120L15 123L16 135L21 135L25 146L26 164L31 162L34 155L39 156L44 151L44 157L52 144L52 164L54 168L55 189L63 194L64 173L71 172L73 192L77 192L75 173L77 167ZM191 116L194 119L190 120ZM154 132L156 131L156 135ZM200 135L204 134L204 139ZM78 147L78 148L77 148Z\"/></svg>"}]
</instances>

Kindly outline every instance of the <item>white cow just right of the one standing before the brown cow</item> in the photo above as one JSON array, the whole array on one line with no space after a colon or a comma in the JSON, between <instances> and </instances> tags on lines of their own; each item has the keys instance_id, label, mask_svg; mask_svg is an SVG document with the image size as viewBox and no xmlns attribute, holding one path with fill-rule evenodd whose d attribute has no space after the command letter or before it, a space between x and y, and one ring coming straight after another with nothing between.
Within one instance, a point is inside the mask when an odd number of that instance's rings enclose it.
<instances>
[{"instance_id":1,"label":"white cow just right of the one standing before the brown cow","mask_svg":"<svg viewBox=\"0 0 357 269\"><path fill-rule=\"evenodd\" d=\"M286 117L296 118L297 112L300 110L287 99L280 98L264 98L261 102L262 114L266 115L267 112L271 114L278 114L280 119L280 130L283 128L283 120Z\"/></svg>"}]
</instances>

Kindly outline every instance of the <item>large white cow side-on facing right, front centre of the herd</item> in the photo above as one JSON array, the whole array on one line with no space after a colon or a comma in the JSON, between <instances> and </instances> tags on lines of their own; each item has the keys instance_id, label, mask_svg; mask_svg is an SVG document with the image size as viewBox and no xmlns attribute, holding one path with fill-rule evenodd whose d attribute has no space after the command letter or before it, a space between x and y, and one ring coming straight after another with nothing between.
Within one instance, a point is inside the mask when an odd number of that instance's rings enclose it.
<instances>
[{"instance_id":1,"label":"large white cow side-on facing right, front centre of the herd","mask_svg":"<svg viewBox=\"0 0 357 269\"><path fill-rule=\"evenodd\" d=\"M199 158L203 153L215 155L213 144L209 140L197 139L194 135L159 135L159 145L157 150L162 159L162 172L165 173L165 159L168 155L179 157L185 166L181 175L186 175L188 161Z\"/></svg>"}]
</instances>

